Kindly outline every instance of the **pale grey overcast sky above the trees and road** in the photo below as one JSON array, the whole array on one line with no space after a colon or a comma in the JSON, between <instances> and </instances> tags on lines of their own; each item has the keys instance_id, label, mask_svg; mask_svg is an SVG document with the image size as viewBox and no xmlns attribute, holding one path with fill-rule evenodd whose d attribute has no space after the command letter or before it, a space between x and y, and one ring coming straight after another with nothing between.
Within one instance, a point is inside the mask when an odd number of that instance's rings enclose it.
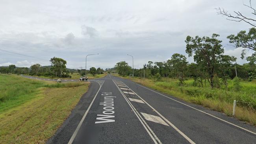
<instances>
[{"instance_id":1,"label":"pale grey overcast sky above the trees and road","mask_svg":"<svg viewBox=\"0 0 256 144\"><path fill-rule=\"evenodd\" d=\"M187 56L187 35L212 33L242 64L241 49L228 45L226 36L250 25L228 21L214 8L249 14L243 1L249 0L0 0L0 66L50 65L55 56L78 68L85 67L85 55L100 53L87 57L87 68L119 61L132 66L127 54L141 68L174 53Z\"/></svg>"}]
</instances>

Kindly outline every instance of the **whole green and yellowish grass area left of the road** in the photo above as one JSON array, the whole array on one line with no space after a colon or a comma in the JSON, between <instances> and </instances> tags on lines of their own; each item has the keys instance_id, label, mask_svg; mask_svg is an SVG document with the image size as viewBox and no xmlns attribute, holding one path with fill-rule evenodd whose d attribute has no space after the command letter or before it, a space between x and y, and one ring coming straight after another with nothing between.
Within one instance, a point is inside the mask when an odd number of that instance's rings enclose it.
<instances>
[{"instance_id":1,"label":"whole green and yellowish grass area left of the road","mask_svg":"<svg viewBox=\"0 0 256 144\"><path fill-rule=\"evenodd\" d=\"M45 143L89 83L54 83L0 75L0 143Z\"/></svg>"}]
</instances>

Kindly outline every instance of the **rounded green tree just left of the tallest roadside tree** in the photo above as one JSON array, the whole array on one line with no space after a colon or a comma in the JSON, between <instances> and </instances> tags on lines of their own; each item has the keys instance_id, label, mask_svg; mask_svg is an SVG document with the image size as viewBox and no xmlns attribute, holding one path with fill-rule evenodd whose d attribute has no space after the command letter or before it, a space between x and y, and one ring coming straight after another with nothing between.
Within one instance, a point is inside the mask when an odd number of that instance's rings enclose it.
<instances>
[{"instance_id":1,"label":"rounded green tree just left of the tallest roadside tree","mask_svg":"<svg viewBox=\"0 0 256 144\"><path fill-rule=\"evenodd\" d=\"M179 78L180 85L182 86L187 70L187 58L182 54L173 54L169 63L171 63L173 73Z\"/></svg>"}]
</instances>

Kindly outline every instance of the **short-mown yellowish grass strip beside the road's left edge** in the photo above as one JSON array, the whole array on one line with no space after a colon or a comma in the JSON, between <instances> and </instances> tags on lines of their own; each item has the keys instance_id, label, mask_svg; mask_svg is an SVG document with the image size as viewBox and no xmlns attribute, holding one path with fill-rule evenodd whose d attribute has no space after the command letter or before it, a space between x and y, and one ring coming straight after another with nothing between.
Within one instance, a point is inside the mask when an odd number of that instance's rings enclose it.
<instances>
[{"instance_id":1,"label":"short-mown yellowish grass strip beside the road's left edge","mask_svg":"<svg viewBox=\"0 0 256 144\"><path fill-rule=\"evenodd\" d=\"M65 84L61 88L43 85L25 93L31 95L28 100L0 113L0 144L45 143L69 116L88 85Z\"/></svg>"}]
</instances>

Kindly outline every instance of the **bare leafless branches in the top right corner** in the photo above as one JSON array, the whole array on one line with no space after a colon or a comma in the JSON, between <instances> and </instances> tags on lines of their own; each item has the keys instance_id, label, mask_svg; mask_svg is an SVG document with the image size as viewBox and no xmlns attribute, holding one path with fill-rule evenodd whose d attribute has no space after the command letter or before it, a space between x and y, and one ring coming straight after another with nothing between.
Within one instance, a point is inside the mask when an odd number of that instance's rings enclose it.
<instances>
[{"instance_id":1,"label":"bare leafless branches in the top right corner","mask_svg":"<svg viewBox=\"0 0 256 144\"><path fill-rule=\"evenodd\" d=\"M251 0L249 1L249 4L243 4L246 7L249 7L252 10L252 16L256 16L256 10L252 7L252 3ZM239 11L234 11L235 15L231 15L227 10L225 9L221 9L220 7L215 8L217 10L217 14L219 15L223 15L226 16L228 18L226 18L227 20L232 20L235 22L246 22L248 24L250 24L251 26L256 26L253 22L256 22L256 20L254 18L251 17L247 17L244 14L240 13Z\"/></svg>"}]
</instances>

